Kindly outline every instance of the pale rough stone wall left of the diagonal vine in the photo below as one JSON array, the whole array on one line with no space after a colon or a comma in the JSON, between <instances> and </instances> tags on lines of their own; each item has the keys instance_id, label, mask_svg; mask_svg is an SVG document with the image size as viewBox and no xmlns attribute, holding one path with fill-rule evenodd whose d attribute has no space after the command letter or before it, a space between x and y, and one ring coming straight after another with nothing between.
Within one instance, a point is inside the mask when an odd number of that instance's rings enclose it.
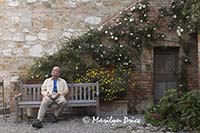
<instances>
[{"instance_id":1,"label":"pale rough stone wall left of the diagonal vine","mask_svg":"<svg viewBox=\"0 0 200 133\"><path fill-rule=\"evenodd\" d=\"M5 83L6 99L11 84L34 58L56 52L60 40L83 34L133 2L0 0L0 79Z\"/></svg>"}]
</instances>

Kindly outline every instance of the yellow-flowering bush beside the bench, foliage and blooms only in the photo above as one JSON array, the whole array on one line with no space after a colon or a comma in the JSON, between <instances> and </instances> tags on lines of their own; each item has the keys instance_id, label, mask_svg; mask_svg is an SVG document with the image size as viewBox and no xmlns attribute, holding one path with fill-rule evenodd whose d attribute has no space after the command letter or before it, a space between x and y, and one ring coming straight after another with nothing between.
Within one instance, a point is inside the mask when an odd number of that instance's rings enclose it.
<instances>
[{"instance_id":1,"label":"yellow-flowering bush beside the bench, foliage and blooms only","mask_svg":"<svg viewBox=\"0 0 200 133\"><path fill-rule=\"evenodd\" d=\"M125 96L128 85L128 74L130 70L106 70L106 69L89 69L85 75L76 79L75 82L99 82L100 100L112 101Z\"/></svg>"}]
</instances>

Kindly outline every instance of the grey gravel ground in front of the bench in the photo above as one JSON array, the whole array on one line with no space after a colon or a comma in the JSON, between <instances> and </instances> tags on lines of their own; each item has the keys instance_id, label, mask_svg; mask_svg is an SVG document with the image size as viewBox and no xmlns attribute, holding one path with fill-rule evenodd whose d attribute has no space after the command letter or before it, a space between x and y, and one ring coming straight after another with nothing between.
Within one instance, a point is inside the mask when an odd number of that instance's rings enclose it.
<instances>
[{"instance_id":1,"label":"grey gravel ground in front of the bench","mask_svg":"<svg viewBox=\"0 0 200 133\"><path fill-rule=\"evenodd\" d=\"M1 116L2 117L2 116ZM10 114L7 122L0 119L0 133L160 133L165 128L152 127L144 123L143 115L122 117L69 116L58 123L43 123L43 128L34 129L31 122L15 122ZM170 132L168 132L170 133Z\"/></svg>"}]
</instances>

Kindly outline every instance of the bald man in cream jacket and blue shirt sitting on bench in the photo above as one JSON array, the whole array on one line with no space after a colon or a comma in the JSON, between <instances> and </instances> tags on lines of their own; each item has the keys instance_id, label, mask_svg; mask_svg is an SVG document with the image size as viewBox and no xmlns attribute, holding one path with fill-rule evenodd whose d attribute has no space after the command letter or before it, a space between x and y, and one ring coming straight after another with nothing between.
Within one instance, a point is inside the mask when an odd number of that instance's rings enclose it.
<instances>
[{"instance_id":1,"label":"bald man in cream jacket and blue shirt sitting on bench","mask_svg":"<svg viewBox=\"0 0 200 133\"><path fill-rule=\"evenodd\" d=\"M42 120L48 106L52 103L59 105L59 108L53 115L56 122L59 113L67 103L65 95L69 92L69 90L66 81L59 78L60 68L58 66L53 67L51 75L52 77L47 78L42 84L41 93L43 95L43 99L38 111L37 120L32 123L32 127L42 128Z\"/></svg>"}]
</instances>

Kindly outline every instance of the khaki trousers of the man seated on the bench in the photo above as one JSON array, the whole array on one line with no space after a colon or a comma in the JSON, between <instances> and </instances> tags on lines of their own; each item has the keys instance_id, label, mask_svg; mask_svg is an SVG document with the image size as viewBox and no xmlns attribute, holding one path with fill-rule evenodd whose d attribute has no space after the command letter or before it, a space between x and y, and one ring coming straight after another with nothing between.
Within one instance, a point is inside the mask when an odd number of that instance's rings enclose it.
<instances>
[{"instance_id":1,"label":"khaki trousers of the man seated on the bench","mask_svg":"<svg viewBox=\"0 0 200 133\"><path fill-rule=\"evenodd\" d=\"M48 107L52 104L52 103L56 103L59 108L56 109L56 111L54 112L54 115L56 117L58 117L59 113L61 112L61 110L64 108L64 106L67 104L67 101L65 99L64 96L59 96L56 100L52 100L46 96L43 97L42 99L42 103L40 105L39 111L38 111L38 116L37 119L42 121L44 118L44 115L48 109Z\"/></svg>"}]
</instances>

